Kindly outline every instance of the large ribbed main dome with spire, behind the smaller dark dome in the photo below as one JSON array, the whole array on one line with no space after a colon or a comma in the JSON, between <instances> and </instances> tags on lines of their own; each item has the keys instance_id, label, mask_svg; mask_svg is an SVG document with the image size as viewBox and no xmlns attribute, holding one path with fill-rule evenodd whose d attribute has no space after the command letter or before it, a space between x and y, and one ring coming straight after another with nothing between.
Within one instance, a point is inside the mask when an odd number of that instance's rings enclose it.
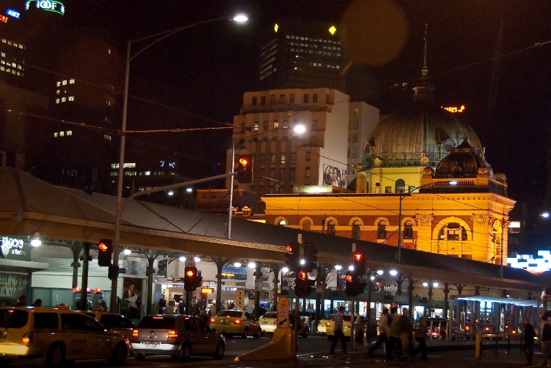
<instances>
[{"instance_id":1,"label":"large ribbed main dome with spire, behind the smaller dark dome","mask_svg":"<svg viewBox=\"0 0 551 368\"><path fill-rule=\"evenodd\" d=\"M420 85L413 88L413 102L381 120L369 140L368 153L382 166L435 167L464 138L482 152L470 125L435 105L425 67L423 72Z\"/></svg>"}]
</instances>

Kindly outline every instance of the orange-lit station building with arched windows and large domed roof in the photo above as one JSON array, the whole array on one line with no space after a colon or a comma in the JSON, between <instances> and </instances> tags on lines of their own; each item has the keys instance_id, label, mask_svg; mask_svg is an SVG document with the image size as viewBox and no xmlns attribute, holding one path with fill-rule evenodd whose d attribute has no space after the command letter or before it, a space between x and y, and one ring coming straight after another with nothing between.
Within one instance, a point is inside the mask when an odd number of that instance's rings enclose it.
<instances>
[{"instance_id":1,"label":"orange-lit station building with arched windows and large domed roof","mask_svg":"<svg viewBox=\"0 0 551 368\"><path fill-rule=\"evenodd\" d=\"M484 160L475 131L435 104L426 72L410 104L371 131L348 190L295 186L264 195L266 223L505 262L515 204L506 176Z\"/></svg>"}]
</instances>

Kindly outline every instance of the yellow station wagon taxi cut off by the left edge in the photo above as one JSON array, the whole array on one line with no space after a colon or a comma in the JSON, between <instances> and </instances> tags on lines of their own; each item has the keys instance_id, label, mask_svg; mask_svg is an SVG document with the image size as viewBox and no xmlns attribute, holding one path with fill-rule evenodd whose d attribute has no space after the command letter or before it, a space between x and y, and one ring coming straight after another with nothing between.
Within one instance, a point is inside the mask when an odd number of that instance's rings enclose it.
<instances>
[{"instance_id":1,"label":"yellow station wagon taxi cut off by the left edge","mask_svg":"<svg viewBox=\"0 0 551 368\"><path fill-rule=\"evenodd\" d=\"M74 360L107 359L123 365L127 338L68 307L0 307L0 359L36 359L48 367Z\"/></svg>"}]
</instances>

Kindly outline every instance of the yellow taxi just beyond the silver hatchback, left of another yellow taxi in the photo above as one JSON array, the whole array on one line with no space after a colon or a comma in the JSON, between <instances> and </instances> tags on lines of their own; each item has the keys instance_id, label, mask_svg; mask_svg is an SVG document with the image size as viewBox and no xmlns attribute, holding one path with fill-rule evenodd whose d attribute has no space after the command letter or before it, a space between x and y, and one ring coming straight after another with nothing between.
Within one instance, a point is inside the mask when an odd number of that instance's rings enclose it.
<instances>
[{"instance_id":1,"label":"yellow taxi just beyond the silver hatchback, left of another yellow taxi","mask_svg":"<svg viewBox=\"0 0 551 368\"><path fill-rule=\"evenodd\" d=\"M225 336L240 335L241 338L262 336L262 328L257 319L242 310L221 310L211 318L212 329Z\"/></svg>"}]
</instances>

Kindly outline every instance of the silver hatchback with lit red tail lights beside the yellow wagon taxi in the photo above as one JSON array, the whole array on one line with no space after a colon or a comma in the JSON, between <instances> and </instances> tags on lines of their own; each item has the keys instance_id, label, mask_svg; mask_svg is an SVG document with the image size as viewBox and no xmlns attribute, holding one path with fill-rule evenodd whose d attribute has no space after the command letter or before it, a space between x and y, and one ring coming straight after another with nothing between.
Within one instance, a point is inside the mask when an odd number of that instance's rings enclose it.
<instances>
[{"instance_id":1,"label":"silver hatchback with lit red tail lights beside the yellow wagon taxi","mask_svg":"<svg viewBox=\"0 0 551 368\"><path fill-rule=\"evenodd\" d=\"M169 355L180 360L191 355L222 359L226 349L224 336L201 318L184 314L143 317L132 332L130 343L136 360L149 355Z\"/></svg>"}]
</instances>

